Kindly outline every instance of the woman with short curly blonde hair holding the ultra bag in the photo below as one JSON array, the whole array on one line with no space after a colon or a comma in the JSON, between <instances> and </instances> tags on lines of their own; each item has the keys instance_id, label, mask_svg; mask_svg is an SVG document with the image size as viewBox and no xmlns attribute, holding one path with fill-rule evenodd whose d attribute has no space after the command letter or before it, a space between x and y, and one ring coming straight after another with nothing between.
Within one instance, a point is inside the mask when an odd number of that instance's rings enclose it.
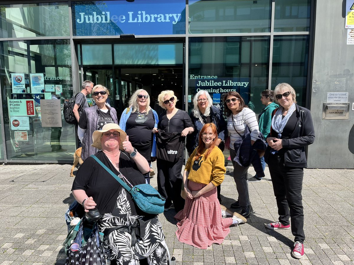
<instances>
[{"instance_id":1,"label":"woman with short curly blonde hair holding the ultra bag","mask_svg":"<svg viewBox=\"0 0 354 265\"><path fill-rule=\"evenodd\" d=\"M194 131L194 126L190 120L188 113L176 108L177 97L172 90L164 90L158 96L159 105L165 109L160 115L157 128L153 129L154 133L159 130L164 133L180 134L180 149L184 150L185 136ZM184 200L181 197L182 186L182 165L184 160L184 152L180 152L175 162L157 159L158 169L158 190L159 193L166 198L165 211L171 208L172 202L175 210L178 212L184 207Z\"/></svg>"}]
</instances>

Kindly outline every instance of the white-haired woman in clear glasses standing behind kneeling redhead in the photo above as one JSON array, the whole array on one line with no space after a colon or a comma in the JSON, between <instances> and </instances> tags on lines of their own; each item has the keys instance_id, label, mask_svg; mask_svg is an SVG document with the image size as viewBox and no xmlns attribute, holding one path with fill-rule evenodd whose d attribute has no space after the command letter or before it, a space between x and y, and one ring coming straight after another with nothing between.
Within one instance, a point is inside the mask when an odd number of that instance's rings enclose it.
<instances>
[{"instance_id":1,"label":"white-haired woman in clear glasses standing behind kneeling redhead","mask_svg":"<svg viewBox=\"0 0 354 265\"><path fill-rule=\"evenodd\" d=\"M218 139L216 140L216 146L221 151L224 151L225 133L227 133L227 125L219 108L213 106L213 100L206 90L199 90L193 98L194 108L190 113L190 119L194 125L194 131L192 134L187 135L186 147L188 155L190 156L195 148L198 146L199 133L201 128L207 123L213 123L216 126ZM217 186L218 200L221 203L220 198L220 185Z\"/></svg>"}]
</instances>

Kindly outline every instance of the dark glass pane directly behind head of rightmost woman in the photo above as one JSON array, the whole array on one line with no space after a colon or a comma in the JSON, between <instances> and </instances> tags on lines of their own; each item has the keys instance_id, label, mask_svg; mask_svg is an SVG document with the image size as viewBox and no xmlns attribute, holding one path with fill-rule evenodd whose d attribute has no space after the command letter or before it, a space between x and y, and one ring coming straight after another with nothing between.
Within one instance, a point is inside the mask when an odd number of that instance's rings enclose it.
<instances>
[{"instance_id":1,"label":"dark glass pane directly behind head of rightmost woman","mask_svg":"<svg viewBox=\"0 0 354 265\"><path fill-rule=\"evenodd\" d=\"M289 83L296 91L297 103L305 106L309 36L274 36L272 90Z\"/></svg>"}]
</instances>

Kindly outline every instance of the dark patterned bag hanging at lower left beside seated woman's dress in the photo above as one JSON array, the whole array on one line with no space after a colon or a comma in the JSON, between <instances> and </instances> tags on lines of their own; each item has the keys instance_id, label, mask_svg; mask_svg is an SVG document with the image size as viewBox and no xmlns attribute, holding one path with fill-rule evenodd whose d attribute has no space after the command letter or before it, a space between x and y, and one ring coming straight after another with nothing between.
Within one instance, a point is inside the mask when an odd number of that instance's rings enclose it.
<instances>
[{"instance_id":1,"label":"dark patterned bag hanging at lower left beside seated woman's dress","mask_svg":"<svg viewBox=\"0 0 354 265\"><path fill-rule=\"evenodd\" d=\"M93 226L90 236L82 246L84 229L86 229L83 223L81 219L75 239L67 250L65 265L106 265L104 247L98 233L97 223Z\"/></svg>"}]
</instances>

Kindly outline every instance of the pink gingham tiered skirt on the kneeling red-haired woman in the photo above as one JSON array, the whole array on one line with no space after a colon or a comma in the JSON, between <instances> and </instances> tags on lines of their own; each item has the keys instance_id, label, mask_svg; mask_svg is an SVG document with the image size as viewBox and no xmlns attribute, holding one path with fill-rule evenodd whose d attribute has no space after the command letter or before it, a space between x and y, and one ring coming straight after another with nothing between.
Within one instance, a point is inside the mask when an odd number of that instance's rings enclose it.
<instances>
[{"instance_id":1,"label":"pink gingham tiered skirt on the kneeling red-haired woman","mask_svg":"<svg viewBox=\"0 0 354 265\"><path fill-rule=\"evenodd\" d=\"M190 191L203 187L205 184L188 181ZM216 188L198 198L186 198L183 210L176 214L175 219L179 221L178 240L201 249L207 249L212 243L221 244L232 225L232 218L222 218Z\"/></svg>"}]
</instances>

